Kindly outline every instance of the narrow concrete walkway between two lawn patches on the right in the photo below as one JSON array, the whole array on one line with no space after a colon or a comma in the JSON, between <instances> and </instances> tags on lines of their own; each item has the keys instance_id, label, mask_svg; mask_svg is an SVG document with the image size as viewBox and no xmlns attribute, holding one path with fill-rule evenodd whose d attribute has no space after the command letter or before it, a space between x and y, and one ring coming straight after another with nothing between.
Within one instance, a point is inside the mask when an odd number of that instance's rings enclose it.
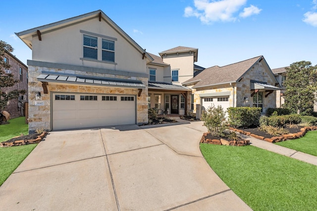
<instances>
[{"instance_id":1,"label":"narrow concrete walkway between two lawn patches on the right","mask_svg":"<svg viewBox=\"0 0 317 211\"><path fill-rule=\"evenodd\" d=\"M272 144L269 142L266 142L264 140L259 140L254 137L246 136L248 140L250 140L250 144L271 152L275 152L280 155L285 155L300 161L304 161L309 164L313 164L317 166L317 157L314 155L309 155L303 152L299 152L293 149L289 149L287 147L279 146L276 144Z\"/></svg>"}]
</instances>

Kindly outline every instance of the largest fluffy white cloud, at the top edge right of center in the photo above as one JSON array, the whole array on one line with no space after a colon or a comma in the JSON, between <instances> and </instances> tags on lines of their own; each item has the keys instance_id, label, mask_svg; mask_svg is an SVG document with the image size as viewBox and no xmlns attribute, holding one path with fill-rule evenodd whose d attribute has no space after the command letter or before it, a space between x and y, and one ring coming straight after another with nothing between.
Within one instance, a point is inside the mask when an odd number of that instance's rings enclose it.
<instances>
[{"instance_id":1,"label":"largest fluffy white cloud, at the top edge right of center","mask_svg":"<svg viewBox=\"0 0 317 211\"><path fill-rule=\"evenodd\" d=\"M235 13L239 11L247 0L194 0L195 8L188 6L184 10L185 17L197 17L203 23L234 22L237 20ZM259 14L261 9L251 5L244 8L241 17Z\"/></svg>"}]
</instances>

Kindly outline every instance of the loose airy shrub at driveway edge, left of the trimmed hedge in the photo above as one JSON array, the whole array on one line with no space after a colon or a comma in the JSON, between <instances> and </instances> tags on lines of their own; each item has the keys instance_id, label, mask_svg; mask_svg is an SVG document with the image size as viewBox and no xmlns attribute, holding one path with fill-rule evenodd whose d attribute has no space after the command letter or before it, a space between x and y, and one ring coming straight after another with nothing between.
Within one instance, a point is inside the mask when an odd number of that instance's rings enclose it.
<instances>
[{"instance_id":1,"label":"loose airy shrub at driveway edge, left of the trimmed hedge","mask_svg":"<svg viewBox=\"0 0 317 211\"><path fill-rule=\"evenodd\" d=\"M204 126L207 127L208 131L213 136L222 137L223 131L228 128L225 111L223 111L221 106L211 106L206 111L202 113L202 121L204 121Z\"/></svg>"}]
</instances>

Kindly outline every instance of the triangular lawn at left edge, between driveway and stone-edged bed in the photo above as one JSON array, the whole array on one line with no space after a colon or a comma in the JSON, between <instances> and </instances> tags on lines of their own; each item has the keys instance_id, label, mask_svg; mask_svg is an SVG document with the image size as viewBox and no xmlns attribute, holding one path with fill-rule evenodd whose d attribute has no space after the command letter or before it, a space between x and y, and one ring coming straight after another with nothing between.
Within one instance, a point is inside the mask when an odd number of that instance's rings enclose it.
<instances>
[{"instance_id":1,"label":"triangular lawn at left edge, between driveway and stone-edged bed","mask_svg":"<svg viewBox=\"0 0 317 211\"><path fill-rule=\"evenodd\" d=\"M37 144L0 148L0 186Z\"/></svg>"}]
</instances>

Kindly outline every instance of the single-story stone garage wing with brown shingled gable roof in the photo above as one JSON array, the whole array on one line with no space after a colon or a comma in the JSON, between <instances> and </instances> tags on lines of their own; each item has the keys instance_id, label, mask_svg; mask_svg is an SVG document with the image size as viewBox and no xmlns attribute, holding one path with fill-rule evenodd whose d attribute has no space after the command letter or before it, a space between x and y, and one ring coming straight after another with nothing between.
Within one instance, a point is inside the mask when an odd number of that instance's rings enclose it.
<instances>
[{"instance_id":1,"label":"single-story stone garage wing with brown shingled gable roof","mask_svg":"<svg viewBox=\"0 0 317 211\"><path fill-rule=\"evenodd\" d=\"M182 83L193 91L194 113L200 118L202 110L212 104L222 108L276 106L276 90L280 88L263 56L226 65L213 66Z\"/></svg>"}]
</instances>

